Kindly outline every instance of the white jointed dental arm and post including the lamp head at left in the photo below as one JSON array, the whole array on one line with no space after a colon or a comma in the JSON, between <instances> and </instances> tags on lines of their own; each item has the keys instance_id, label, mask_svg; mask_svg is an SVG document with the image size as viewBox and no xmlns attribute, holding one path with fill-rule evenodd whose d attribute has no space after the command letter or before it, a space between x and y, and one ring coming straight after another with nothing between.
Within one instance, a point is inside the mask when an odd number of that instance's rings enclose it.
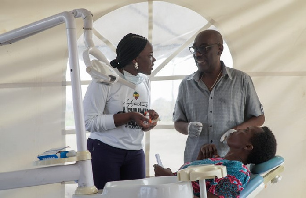
<instances>
[{"instance_id":1,"label":"white jointed dental arm and post including the lamp head at left","mask_svg":"<svg viewBox=\"0 0 306 198\"><path fill-rule=\"evenodd\" d=\"M94 194L98 192L93 183L91 155L90 152L87 151L86 144L77 33L75 30L75 18L80 17L84 19L84 42L87 50L84 51L83 56L87 72L98 82L106 84L119 82L131 88L135 88L135 84L117 76L104 54L94 47L92 42L92 14L86 9L62 12L29 25L22 26L19 29L1 34L0 46L12 44L59 24L66 23L75 132L77 135L77 153L75 157L41 160L34 163L35 165L54 166L0 173L0 190L78 181L78 187L75 190L75 194ZM97 58L97 60L90 61L90 54ZM61 165L65 162L74 161L74 164ZM33 177L33 175L37 177Z\"/></svg>"}]
</instances>

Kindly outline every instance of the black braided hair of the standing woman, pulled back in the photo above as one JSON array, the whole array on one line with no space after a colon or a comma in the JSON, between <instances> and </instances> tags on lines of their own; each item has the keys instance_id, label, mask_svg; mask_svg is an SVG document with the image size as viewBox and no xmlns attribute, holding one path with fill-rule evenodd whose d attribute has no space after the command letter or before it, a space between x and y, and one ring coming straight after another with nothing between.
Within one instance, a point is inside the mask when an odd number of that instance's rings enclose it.
<instances>
[{"instance_id":1,"label":"black braided hair of the standing woman, pulled back","mask_svg":"<svg viewBox=\"0 0 306 198\"><path fill-rule=\"evenodd\" d=\"M123 68L137 58L139 53L147 44L147 39L143 36L129 33L119 42L116 53L117 57L110 62L113 68Z\"/></svg>"}]
</instances>

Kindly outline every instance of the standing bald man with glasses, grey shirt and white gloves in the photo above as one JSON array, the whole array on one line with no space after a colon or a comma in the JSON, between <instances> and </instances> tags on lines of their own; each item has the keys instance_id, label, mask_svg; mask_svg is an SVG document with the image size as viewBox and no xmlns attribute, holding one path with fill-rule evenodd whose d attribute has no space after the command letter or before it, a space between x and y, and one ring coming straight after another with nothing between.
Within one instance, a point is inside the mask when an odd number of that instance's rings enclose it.
<instances>
[{"instance_id":1,"label":"standing bald man with glasses, grey shirt and white gloves","mask_svg":"<svg viewBox=\"0 0 306 198\"><path fill-rule=\"evenodd\" d=\"M226 131L265 122L250 76L220 61L222 44L219 32L205 30L189 47L198 70L182 80L173 114L175 129L188 135L184 162L196 160L204 144L215 144L224 156L228 146L220 138Z\"/></svg>"}]
</instances>

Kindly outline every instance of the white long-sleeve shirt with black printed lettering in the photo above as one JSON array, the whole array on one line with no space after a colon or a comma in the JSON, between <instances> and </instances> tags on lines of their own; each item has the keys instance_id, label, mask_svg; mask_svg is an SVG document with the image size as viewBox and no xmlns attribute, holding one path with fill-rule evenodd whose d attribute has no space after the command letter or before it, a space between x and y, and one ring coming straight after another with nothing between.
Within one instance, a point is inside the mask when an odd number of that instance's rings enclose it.
<instances>
[{"instance_id":1,"label":"white long-sleeve shirt with black printed lettering","mask_svg":"<svg viewBox=\"0 0 306 198\"><path fill-rule=\"evenodd\" d=\"M118 75L123 77L121 73ZM107 86L92 80L84 97L84 116L89 138L98 139L112 147L126 150L143 148L144 132L136 122L116 127L114 114L137 111L144 114L149 109L150 81L147 76L135 89L114 83Z\"/></svg>"}]
</instances>

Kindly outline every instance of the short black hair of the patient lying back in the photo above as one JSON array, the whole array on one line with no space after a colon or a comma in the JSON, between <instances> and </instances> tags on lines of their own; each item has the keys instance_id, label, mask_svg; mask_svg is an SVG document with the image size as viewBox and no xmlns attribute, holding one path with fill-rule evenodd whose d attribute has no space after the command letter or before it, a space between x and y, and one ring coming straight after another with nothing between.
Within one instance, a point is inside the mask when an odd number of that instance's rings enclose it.
<instances>
[{"instance_id":1,"label":"short black hair of the patient lying back","mask_svg":"<svg viewBox=\"0 0 306 198\"><path fill-rule=\"evenodd\" d=\"M276 139L272 131L264 126L262 132L254 133L250 138L253 149L247 157L247 163L262 163L272 159L276 153Z\"/></svg>"}]
</instances>

